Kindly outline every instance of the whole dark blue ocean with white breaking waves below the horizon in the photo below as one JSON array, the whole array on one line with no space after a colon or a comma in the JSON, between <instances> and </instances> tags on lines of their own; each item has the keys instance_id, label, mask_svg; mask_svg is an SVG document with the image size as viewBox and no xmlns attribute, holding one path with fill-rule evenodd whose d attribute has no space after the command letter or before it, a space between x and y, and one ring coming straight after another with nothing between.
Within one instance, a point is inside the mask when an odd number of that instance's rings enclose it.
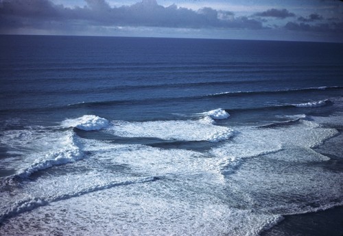
<instances>
[{"instance_id":1,"label":"whole dark blue ocean with white breaking waves below the horizon","mask_svg":"<svg viewBox=\"0 0 343 236\"><path fill-rule=\"evenodd\" d=\"M0 235L342 236L343 44L0 47Z\"/></svg>"}]
</instances>

